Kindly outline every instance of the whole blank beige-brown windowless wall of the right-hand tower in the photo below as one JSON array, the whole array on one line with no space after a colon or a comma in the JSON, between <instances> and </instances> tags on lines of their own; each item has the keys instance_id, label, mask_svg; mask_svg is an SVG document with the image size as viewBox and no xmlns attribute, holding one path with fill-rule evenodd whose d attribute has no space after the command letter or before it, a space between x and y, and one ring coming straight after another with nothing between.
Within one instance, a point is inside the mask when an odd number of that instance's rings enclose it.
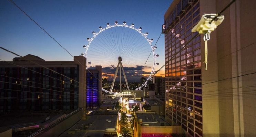
<instances>
[{"instance_id":1,"label":"whole blank beige-brown windowless wall of the right-hand tower","mask_svg":"<svg viewBox=\"0 0 256 137\"><path fill-rule=\"evenodd\" d=\"M217 13L229 2L201 0L201 14ZM202 86L204 137L256 136L255 11L254 0L236 0L222 13L222 24L211 33L208 70L202 70L202 84L220 81ZM203 53L204 48L202 61Z\"/></svg>"}]
</instances>

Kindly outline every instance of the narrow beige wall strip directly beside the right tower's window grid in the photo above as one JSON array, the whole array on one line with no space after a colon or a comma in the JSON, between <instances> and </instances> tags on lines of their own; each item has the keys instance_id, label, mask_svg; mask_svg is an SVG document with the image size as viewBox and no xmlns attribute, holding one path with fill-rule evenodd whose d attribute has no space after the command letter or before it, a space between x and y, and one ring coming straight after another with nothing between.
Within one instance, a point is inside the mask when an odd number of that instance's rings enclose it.
<instances>
[{"instance_id":1,"label":"narrow beige wall strip directly beside the right tower's window grid","mask_svg":"<svg viewBox=\"0 0 256 137\"><path fill-rule=\"evenodd\" d=\"M200 0L200 15L204 13L217 13L215 0ZM222 24L221 24L222 25ZM219 29L219 28L217 28ZM204 40L201 35L201 64L202 64L202 84L218 80L218 50L217 32L211 33L208 44L208 64L205 71ZM216 95L216 96L213 96ZM218 83L202 85L202 105L203 105L203 136L219 136L219 98Z\"/></svg>"}]
</instances>

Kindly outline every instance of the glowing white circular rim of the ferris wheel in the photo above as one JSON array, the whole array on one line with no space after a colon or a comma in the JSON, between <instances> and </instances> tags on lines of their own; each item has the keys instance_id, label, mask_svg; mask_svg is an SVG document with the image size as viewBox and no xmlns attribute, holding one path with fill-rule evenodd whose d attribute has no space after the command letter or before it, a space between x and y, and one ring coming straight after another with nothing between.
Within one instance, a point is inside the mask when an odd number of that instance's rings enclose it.
<instances>
[{"instance_id":1,"label":"glowing white circular rim of the ferris wheel","mask_svg":"<svg viewBox=\"0 0 256 137\"><path fill-rule=\"evenodd\" d=\"M153 66L152 66L152 70L151 70L151 73L150 73L149 77L146 79L146 81L145 81L140 87L138 87L138 88L135 89L135 90L140 90L140 89L141 89L142 87L144 87L144 86L147 84L147 82L152 78L152 75L153 75L154 70L155 70L155 65L156 65L156 60L155 60L155 59L156 59L155 47L152 46L152 42L151 42L151 40L147 37L147 35L146 35L145 33L141 32L141 29L135 28L134 25L133 25L133 26L132 26L132 25L130 26L130 25L126 25L126 24L107 25L107 27L101 28L99 32L93 32L93 37L92 37L91 39L88 38L88 39L89 39L89 40L88 40L89 43L88 43L88 45L86 45L86 47L85 47L85 53L83 53L83 56L84 56L85 58L87 57L87 51L88 51L88 49L89 49L89 47L90 47L91 42L93 41L93 39L94 39L96 36L98 36L100 33L104 32L104 30L110 29L110 28L113 28L113 27L127 27L127 28L130 28L130 29L132 29L132 30L135 30L136 32L138 32L138 33L140 33L142 36L144 36L144 38L147 40L147 42L149 42L149 45L150 45L150 47L151 47L151 49L152 49L152 52L153 52L153 59L154 59L154 61L153 61ZM102 88L102 90L106 91L106 90L103 89L103 88Z\"/></svg>"}]
</instances>

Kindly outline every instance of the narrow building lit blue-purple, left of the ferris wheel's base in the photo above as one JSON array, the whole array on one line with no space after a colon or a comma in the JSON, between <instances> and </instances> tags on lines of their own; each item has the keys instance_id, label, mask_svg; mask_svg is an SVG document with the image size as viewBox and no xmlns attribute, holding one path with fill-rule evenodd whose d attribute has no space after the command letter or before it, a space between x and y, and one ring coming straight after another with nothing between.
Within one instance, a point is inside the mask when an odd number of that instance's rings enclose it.
<instances>
[{"instance_id":1,"label":"narrow building lit blue-purple, left of the ferris wheel's base","mask_svg":"<svg viewBox=\"0 0 256 137\"><path fill-rule=\"evenodd\" d=\"M86 74L86 108L93 109L102 101L102 66L95 66L95 69L88 70Z\"/></svg>"}]
</instances>

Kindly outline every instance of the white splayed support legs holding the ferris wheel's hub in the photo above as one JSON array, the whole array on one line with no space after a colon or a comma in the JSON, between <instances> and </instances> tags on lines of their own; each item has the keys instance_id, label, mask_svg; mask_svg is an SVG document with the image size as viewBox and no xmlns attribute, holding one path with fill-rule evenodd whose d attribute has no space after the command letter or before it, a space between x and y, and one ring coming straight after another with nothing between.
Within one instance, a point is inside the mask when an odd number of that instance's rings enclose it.
<instances>
[{"instance_id":1,"label":"white splayed support legs holding the ferris wheel's hub","mask_svg":"<svg viewBox=\"0 0 256 137\"><path fill-rule=\"evenodd\" d=\"M119 68L118 68L118 67L119 67ZM115 74L114 74L114 79L113 79L113 82L112 82L112 84L111 84L110 93L111 93L112 90L113 90L114 83L115 83L115 78L116 78L118 69L120 70L120 92L122 91L122 70L123 70L124 80L125 80L127 89L130 90L130 89L129 89L129 86L128 86L127 79L126 79L126 75L125 75L125 73L124 73L124 67L123 67L123 64L122 64L122 58L121 58L121 57L118 57L118 64L117 64L117 66L116 66L116 70L115 70Z\"/></svg>"}]
</instances>

